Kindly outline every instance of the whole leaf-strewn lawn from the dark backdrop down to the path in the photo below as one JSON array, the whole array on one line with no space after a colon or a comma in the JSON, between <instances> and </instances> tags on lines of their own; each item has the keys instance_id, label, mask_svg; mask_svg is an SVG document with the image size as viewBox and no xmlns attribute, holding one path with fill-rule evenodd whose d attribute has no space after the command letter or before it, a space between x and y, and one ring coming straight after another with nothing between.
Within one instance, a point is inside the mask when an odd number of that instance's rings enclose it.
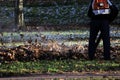
<instances>
[{"instance_id":1,"label":"whole leaf-strewn lawn from the dark backdrop down to the path","mask_svg":"<svg viewBox=\"0 0 120 80\"><path fill-rule=\"evenodd\" d=\"M89 33L86 29L3 32L0 34L0 77L86 72L117 75L120 73L119 29L111 30L110 61L103 59L101 42L97 47L95 60L88 60Z\"/></svg>"}]
</instances>

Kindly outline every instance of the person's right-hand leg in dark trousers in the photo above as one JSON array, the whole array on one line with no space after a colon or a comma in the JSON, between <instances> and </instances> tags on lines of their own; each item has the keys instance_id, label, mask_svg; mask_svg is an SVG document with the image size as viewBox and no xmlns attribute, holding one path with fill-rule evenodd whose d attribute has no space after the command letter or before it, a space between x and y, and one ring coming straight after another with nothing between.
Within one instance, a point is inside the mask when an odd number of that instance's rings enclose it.
<instances>
[{"instance_id":1,"label":"person's right-hand leg in dark trousers","mask_svg":"<svg viewBox=\"0 0 120 80\"><path fill-rule=\"evenodd\" d=\"M104 46L104 59L110 59L110 33L109 33L109 22L107 20L103 20L101 26L101 33L103 39Z\"/></svg>"}]
</instances>

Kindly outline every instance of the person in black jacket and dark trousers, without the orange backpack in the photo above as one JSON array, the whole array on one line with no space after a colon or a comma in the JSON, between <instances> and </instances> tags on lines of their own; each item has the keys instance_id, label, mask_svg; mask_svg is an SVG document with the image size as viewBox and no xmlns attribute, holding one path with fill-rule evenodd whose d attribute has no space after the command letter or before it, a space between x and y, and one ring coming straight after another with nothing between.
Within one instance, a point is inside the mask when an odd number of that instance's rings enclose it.
<instances>
[{"instance_id":1,"label":"person in black jacket and dark trousers, without the orange backpack","mask_svg":"<svg viewBox=\"0 0 120 80\"><path fill-rule=\"evenodd\" d=\"M91 0L89 8L88 8L88 17L91 19L90 21L90 37L89 37L89 45L88 45L88 57L90 60L95 59L96 52L96 38L101 32L101 38L103 40L103 49L104 49L104 59L110 60L110 27L109 24L116 18L118 14L117 7L108 0L108 4L110 6L109 14L99 14L96 15L93 12L93 0Z\"/></svg>"}]
</instances>

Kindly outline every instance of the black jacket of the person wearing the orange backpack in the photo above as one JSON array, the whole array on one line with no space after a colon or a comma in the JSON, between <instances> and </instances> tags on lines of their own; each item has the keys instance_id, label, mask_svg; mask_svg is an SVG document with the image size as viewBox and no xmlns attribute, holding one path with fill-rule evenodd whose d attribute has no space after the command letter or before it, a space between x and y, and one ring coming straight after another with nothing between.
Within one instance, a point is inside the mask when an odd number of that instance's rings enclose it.
<instances>
[{"instance_id":1,"label":"black jacket of the person wearing the orange backpack","mask_svg":"<svg viewBox=\"0 0 120 80\"><path fill-rule=\"evenodd\" d=\"M92 11L92 1L93 0L91 0L91 3L89 5L89 9L88 9L88 17L91 18L92 20L107 19L111 23L116 18L116 16L118 15L118 9L114 4L112 4L110 6L110 11L111 11L110 14L94 15L94 13Z\"/></svg>"}]
</instances>

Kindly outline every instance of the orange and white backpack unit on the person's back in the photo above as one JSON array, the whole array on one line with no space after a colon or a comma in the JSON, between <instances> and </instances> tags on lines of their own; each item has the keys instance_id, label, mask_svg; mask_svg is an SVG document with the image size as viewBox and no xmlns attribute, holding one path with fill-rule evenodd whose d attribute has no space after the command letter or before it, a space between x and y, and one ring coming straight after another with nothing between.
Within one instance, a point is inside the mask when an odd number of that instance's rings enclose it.
<instances>
[{"instance_id":1,"label":"orange and white backpack unit on the person's back","mask_svg":"<svg viewBox=\"0 0 120 80\"><path fill-rule=\"evenodd\" d=\"M109 14L110 13L109 7L110 6L108 0L93 0L92 2L92 9L95 15Z\"/></svg>"}]
</instances>

